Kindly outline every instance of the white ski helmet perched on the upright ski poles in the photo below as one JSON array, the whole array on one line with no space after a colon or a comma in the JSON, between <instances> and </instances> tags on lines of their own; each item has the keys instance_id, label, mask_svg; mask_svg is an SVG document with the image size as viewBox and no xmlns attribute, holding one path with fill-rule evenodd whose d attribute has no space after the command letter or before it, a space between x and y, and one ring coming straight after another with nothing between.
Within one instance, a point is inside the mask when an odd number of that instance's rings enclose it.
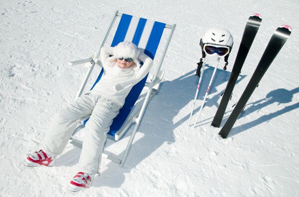
<instances>
[{"instance_id":1,"label":"white ski helmet perched on the upright ski poles","mask_svg":"<svg viewBox=\"0 0 299 197\"><path fill-rule=\"evenodd\" d=\"M234 41L233 41L233 36L231 33L224 28L221 27L212 27L206 31L206 33L203 35L203 37L200 39L200 47L202 51L202 58L206 57L206 51L204 50L205 46L212 46L215 48L227 48L228 51L226 52L218 52L215 51L218 55L221 55L221 53L224 54L224 61L225 61L225 66L223 69L226 69L226 66L228 64L228 56L232 50ZM213 55L215 54L214 52L212 54L208 55Z\"/></svg>"}]
</instances>

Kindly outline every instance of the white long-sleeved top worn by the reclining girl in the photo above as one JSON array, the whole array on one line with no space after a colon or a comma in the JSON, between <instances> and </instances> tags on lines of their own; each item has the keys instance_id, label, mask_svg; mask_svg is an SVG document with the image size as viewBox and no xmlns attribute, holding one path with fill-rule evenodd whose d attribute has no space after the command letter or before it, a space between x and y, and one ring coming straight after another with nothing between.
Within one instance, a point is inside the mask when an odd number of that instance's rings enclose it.
<instances>
[{"instance_id":1,"label":"white long-sleeved top worn by the reclining girl","mask_svg":"<svg viewBox=\"0 0 299 197\"><path fill-rule=\"evenodd\" d=\"M92 89L92 92L103 95L107 98L125 104L125 99L132 87L142 80L152 66L152 60L144 53L138 59L144 63L139 69L121 68L108 58L113 55L114 47L103 47L101 49L101 61L104 67L104 74L99 82Z\"/></svg>"}]
</instances>

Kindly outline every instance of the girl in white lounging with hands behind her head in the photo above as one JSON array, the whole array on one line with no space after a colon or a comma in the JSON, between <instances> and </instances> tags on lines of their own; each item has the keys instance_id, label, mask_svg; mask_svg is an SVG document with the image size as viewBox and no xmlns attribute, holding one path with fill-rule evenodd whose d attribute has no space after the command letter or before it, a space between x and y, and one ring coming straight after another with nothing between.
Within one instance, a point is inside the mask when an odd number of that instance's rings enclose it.
<instances>
[{"instance_id":1,"label":"girl in white lounging with hands behind her head","mask_svg":"<svg viewBox=\"0 0 299 197\"><path fill-rule=\"evenodd\" d=\"M90 116L83 129L79 173L68 186L73 192L90 187L98 172L106 134L113 119L132 87L148 74L152 66L152 60L131 42L103 47L100 56L105 70L101 80L91 91L66 105L53 117L42 150L34 152L24 161L27 166L54 166L56 156L62 153L77 124L82 118Z\"/></svg>"}]
</instances>

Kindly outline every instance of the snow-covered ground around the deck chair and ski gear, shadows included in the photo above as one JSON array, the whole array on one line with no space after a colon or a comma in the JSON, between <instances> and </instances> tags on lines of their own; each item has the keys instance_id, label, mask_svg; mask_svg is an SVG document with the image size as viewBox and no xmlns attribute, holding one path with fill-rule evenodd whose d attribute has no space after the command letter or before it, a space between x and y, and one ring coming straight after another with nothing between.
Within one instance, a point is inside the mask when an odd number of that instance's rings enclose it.
<instances>
[{"instance_id":1,"label":"snow-covered ground around the deck chair and ski gear, shadows included","mask_svg":"<svg viewBox=\"0 0 299 197\"><path fill-rule=\"evenodd\" d=\"M98 49L117 9L177 24L161 68L165 75L125 166L104 158L92 187L70 194L66 187L77 173L79 148L68 144L50 168L29 168L23 160L40 148L52 115L74 99L85 76L87 68L67 63ZM1 0L0 196L299 196L298 10L298 0ZM252 13L263 21L221 127L275 29L288 24L293 33L222 139L210 125ZM199 40L213 26L230 30L234 47L227 71L220 61L197 126L187 129ZM193 120L214 64L211 59L206 66ZM126 140L113 149L122 153Z\"/></svg>"}]
</instances>

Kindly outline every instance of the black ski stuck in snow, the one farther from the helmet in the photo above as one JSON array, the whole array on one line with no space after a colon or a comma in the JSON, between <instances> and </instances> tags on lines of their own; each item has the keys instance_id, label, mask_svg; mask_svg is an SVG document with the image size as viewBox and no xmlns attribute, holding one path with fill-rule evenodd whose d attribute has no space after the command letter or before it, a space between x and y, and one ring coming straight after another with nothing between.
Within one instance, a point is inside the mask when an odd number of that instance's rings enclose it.
<instances>
[{"instance_id":1,"label":"black ski stuck in snow, the one farther from the helmet","mask_svg":"<svg viewBox=\"0 0 299 197\"><path fill-rule=\"evenodd\" d=\"M226 138L231 129L233 128L235 122L239 118L250 96L254 92L257 85L260 83L262 77L266 73L271 63L274 61L277 54L280 52L280 50L288 40L289 36L291 35L291 32L292 29L288 25L282 25L279 28L277 28L277 30L274 32L240 100L238 101L233 112L231 113L226 123L223 125L222 129L219 132L219 135L221 135L222 138Z\"/></svg>"}]
</instances>

